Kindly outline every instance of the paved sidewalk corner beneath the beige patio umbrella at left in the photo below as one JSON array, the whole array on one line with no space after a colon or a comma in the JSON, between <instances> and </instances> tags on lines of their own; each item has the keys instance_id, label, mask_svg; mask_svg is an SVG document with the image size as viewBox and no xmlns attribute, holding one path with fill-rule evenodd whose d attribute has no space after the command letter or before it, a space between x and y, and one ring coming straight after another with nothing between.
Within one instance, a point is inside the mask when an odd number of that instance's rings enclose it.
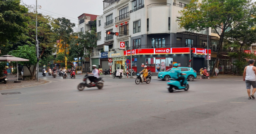
<instances>
[{"instance_id":1,"label":"paved sidewalk corner beneath the beige patio umbrella at left","mask_svg":"<svg viewBox=\"0 0 256 134\"><path fill-rule=\"evenodd\" d=\"M44 83L49 83L46 80L39 79L39 82L37 80L19 80L21 83L14 83L14 81L17 81L17 76L13 74L8 74L8 81L6 84L0 83L0 90L3 89L12 89L12 88L23 88L23 87L29 87L29 86L38 86Z\"/></svg>"}]
</instances>

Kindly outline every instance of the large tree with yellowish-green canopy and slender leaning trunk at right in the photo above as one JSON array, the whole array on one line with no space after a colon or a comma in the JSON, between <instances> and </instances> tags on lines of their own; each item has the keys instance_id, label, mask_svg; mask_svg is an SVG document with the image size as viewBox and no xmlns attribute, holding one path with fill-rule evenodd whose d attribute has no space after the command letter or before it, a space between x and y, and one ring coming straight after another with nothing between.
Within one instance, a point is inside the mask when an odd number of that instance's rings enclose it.
<instances>
[{"instance_id":1,"label":"large tree with yellowish-green canopy and slender leaning trunk at right","mask_svg":"<svg viewBox=\"0 0 256 134\"><path fill-rule=\"evenodd\" d=\"M236 29L244 20L251 18L256 13L256 4L251 0L192 0L186 8L180 11L180 28L186 30L202 31L208 28L215 29L219 35L217 57L213 68L218 66L221 56L224 37L229 30ZM218 32L217 29L221 29ZM213 71L211 76L213 76Z\"/></svg>"}]
</instances>

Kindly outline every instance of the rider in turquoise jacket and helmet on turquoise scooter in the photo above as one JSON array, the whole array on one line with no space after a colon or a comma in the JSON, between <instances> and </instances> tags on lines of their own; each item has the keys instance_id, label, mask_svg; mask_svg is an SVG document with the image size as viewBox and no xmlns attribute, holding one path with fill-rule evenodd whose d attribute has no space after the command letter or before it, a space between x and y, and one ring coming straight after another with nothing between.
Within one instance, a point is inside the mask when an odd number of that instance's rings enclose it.
<instances>
[{"instance_id":1,"label":"rider in turquoise jacket and helmet on turquoise scooter","mask_svg":"<svg viewBox=\"0 0 256 134\"><path fill-rule=\"evenodd\" d=\"M171 78L172 79L176 79L178 81L181 80L180 85L181 86L185 86L185 83L184 83L185 77L179 76L179 74L181 74L181 75L186 75L186 74L181 73L180 69L177 68L178 66L179 66L178 63L173 64L173 68L171 69Z\"/></svg>"}]
</instances>

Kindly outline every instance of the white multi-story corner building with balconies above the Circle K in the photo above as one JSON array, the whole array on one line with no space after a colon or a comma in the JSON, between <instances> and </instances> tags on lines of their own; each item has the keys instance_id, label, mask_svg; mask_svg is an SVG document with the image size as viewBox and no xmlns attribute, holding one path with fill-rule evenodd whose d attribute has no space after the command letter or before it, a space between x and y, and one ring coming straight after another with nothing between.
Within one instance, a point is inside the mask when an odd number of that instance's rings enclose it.
<instances>
[{"instance_id":1,"label":"white multi-story corner building with balconies above the Circle K","mask_svg":"<svg viewBox=\"0 0 256 134\"><path fill-rule=\"evenodd\" d=\"M112 70L117 67L126 69L125 61L130 59L132 48L131 60L135 71L140 71L147 65L152 72L158 72L171 68L173 63L188 67L191 47L195 53L191 66L195 70L206 66L207 32L186 31L178 25L178 11L189 2L190 0L104 0L103 14L97 17L98 41L97 48L92 53L92 63L98 63L104 70L109 68L108 59L112 58ZM119 36L107 34L108 31L118 32ZM209 48L212 49L217 45L218 36L211 35L211 31L209 29ZM104 47L109 48L109 51L103 52Z\"/></svg>"}]
</instances>

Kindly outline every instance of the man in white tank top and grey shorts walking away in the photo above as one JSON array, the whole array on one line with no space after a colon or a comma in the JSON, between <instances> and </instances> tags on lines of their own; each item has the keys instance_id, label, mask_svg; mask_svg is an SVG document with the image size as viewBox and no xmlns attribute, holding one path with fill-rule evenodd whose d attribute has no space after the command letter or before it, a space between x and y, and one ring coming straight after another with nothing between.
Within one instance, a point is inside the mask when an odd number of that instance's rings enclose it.
<instances>
[{"instance_id":1,"label":"man in white tank top and grey shorts walking away","mask_svg":"<svg viewBox=\"0 0 256 134\"><path fill-rule=\"evenodd\" d=\"M248 99L255 99L254 93L256 91L256 67L254 65L254 60L249 60L249 66L244 68L243 78L246 84L246 89L248 93ZM253 86L253 92L250 95L250 88Z\"/></svg>"}]
</instances>

